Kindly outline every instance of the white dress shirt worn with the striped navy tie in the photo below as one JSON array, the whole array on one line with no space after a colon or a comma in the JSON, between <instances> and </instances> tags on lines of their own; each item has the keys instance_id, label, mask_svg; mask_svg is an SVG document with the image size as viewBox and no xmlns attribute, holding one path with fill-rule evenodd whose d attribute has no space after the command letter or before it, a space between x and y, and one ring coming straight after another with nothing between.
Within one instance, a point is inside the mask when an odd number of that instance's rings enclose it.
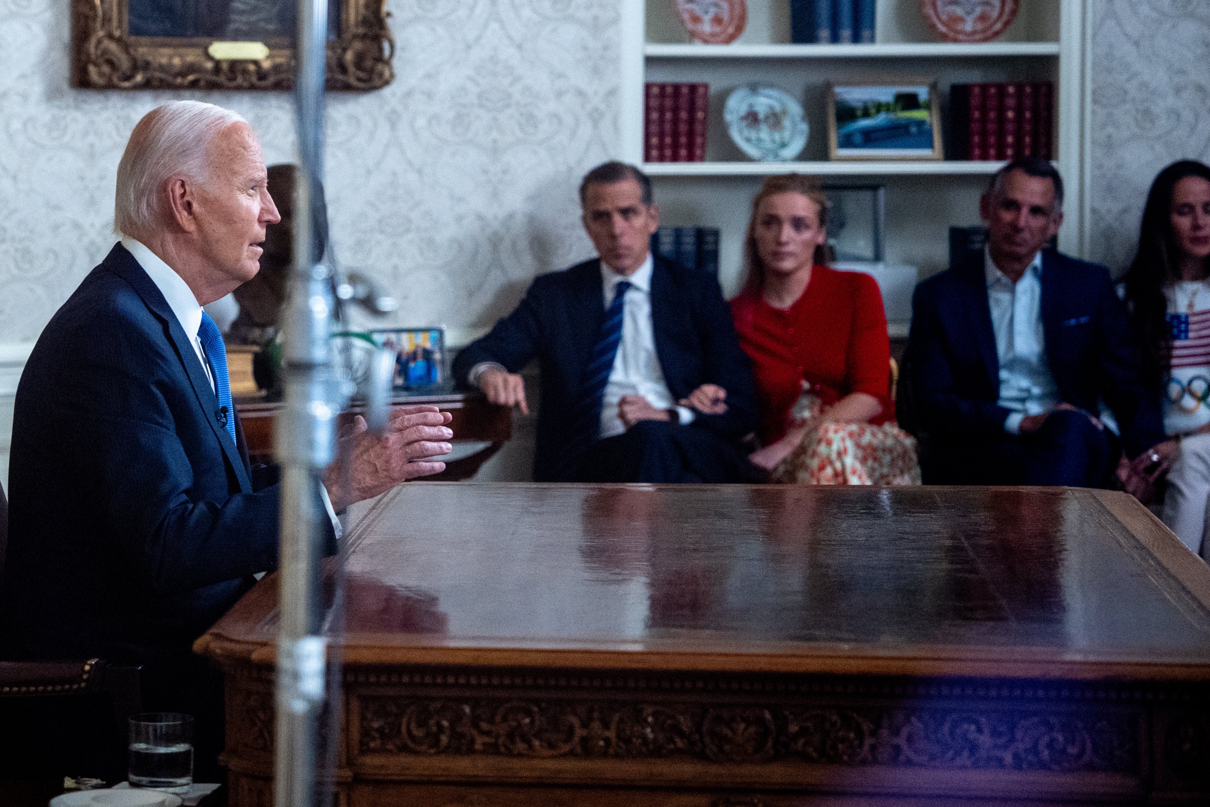
<instances>
[{"instance_id":1,"label":"white dress shirt worn with the striped navy tie","mask_svg":"<svg viewBox=\"0 0 1210 807\"><path fill-rule=\"evenodd\" d=\"M651 272L655 261L651 253L643 265L629 276L620 275L601 261L601 290L605 309L613 301L613 292L622 281L630 283L622 310L622 341L613 357L613 369L601 399L600 437L613 437L626 431L617 411L622 396L643 396L656 409L676 409L680 423L693 422L693 410L675 407L673 393L664 382L664 371L656 354L656 333L651 324Z\"/></svg>"}]
</instances>

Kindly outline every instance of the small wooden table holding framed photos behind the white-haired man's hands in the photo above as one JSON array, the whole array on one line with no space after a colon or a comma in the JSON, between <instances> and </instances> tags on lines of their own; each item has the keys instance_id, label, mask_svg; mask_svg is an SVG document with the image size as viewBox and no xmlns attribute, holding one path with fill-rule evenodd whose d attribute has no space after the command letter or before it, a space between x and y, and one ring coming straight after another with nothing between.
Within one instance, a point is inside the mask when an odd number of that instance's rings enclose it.
<instances>
[{"instance_id":1,"label":"small wooden table holding framed photos behind the white-haired man's hands","mask_svg":"<svg viewBox=\"0 0 1210 807\"><path fill-rule=\"evenodd\" d=\"M454 430L454 443L490 443L484 450L471 456L446 463L445 471L428 477L428 480L455 482L469 479L484 462L513 434L512 410L494 407L478 390L467 392L440 392L434 394L404 394L391 402L392 407L415 407L432 404L454 417L450 428ZM236 409L243 423L243 437L248 443L248 455L253 462L273 461L273 417L281 408L281 402L255 399L236 400ZM341 414L347 420L361 413L359 407Z\"/></svg>"}]
</instances>

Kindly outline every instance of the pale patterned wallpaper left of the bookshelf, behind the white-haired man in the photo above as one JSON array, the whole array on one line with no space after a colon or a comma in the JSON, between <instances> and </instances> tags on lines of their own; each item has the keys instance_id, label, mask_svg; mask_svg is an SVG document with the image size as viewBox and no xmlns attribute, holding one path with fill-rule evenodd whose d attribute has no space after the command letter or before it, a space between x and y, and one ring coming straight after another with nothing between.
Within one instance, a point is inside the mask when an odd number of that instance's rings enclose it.
<instances>
[{"instance_id":1,"label":"pale patterned wallpaper left of the bookshelf, behind the white-haired man","mask_svg":"<svg viewBox=\"0 0 1210 807\"><path fill-rule=\"evenodd\" d=\"M329 96L338 259L399 323L490 325L540 272L587 256L576 183L617 142L617 4L388 0L396 81ZM131 128L178 93L68 88L69 0L0 0L0 344L33 341L115 241ZM294 149L284 93L194 93Z\"/></svg>"}]
</instances>

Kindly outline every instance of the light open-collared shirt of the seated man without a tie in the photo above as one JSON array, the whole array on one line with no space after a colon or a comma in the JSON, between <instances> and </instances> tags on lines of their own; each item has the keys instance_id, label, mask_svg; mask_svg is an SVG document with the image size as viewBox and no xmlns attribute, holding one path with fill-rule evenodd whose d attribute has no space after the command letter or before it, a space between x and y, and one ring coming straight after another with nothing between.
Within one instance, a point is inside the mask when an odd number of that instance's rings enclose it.
<instances>
[{"instance_id":1,"label":"light open-collared shirt of the seated man without a tie","mask_svg":"<svg viewBox=\"0 0 1210 807\"><path fill-rule=\"evenodd\" d=\"M1042 325L1042 253L1033 256L1025 273L1013 283L997 269L985 247L984 275L999 359L998 403L1013 410L1004 420L1004 431L1020 434L1026 415L1041 415L1059 403L1059 386L1047 362Z\"/></svg>"}]
</instances>

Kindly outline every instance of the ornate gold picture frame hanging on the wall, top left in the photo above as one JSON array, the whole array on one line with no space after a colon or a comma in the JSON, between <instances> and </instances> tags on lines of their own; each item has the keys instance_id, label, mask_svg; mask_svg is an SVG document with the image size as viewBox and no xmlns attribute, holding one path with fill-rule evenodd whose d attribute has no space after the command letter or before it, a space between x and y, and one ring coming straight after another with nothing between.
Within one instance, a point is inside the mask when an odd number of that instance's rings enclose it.
<instances>
[{"instance_id":1,"label":"ornate gold picture frame hanging on the wall, top left","mask_svg":"<svg viewBox=\"0 0 1210 807\"><path fill-rule=\"evenodd\" d=\"M178 8L204 11L209 1L180 0ZM294 86L294 52L287 39L277 36L261 42L226 41L248 39L230 36L132 36L132 2L146 0L71 0L74 87L290 90ZM339 21L336 35L328 41L328 90L385 87L394 79L391 67L394 38L386 24L386 0L339 2L334 15Z\"/></svg>"}]
</instances>

